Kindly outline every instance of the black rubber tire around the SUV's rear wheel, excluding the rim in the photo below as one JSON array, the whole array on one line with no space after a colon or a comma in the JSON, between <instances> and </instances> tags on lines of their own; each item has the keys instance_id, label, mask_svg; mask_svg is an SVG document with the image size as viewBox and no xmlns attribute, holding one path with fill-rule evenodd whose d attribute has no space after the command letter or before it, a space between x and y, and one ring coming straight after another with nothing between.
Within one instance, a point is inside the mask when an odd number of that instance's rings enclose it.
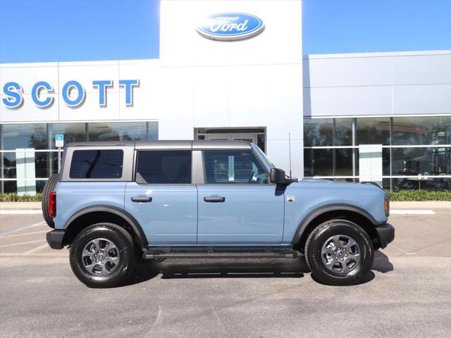
<instances>
[{"instance_id":1,"label":"black rubber tire around the SUV's rear wheel, excluding the rim","mask_svg":"<svg viewBox=\"0 0 451 338\"><path fill-rule=\"evenodd\" d=\"M83 250L95 239L111 241L118 249L118 266L110 275L93 275L85 268ZM135 268L136 256L132 236L123 227L113 223L90 225L73 240L69 260L73 273L87 287L118 287L128 280Z\"/></svg>"}]
</instances>

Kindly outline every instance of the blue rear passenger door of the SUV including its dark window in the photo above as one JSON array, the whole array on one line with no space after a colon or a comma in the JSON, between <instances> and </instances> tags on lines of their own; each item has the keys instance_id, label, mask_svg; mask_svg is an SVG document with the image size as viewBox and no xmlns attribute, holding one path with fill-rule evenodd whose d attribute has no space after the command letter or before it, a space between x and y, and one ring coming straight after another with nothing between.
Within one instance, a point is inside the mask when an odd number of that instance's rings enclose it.
<instances>
[{"instance_id":1,"label":"blue rear passenger door of the SUV including its dark window","mask_svg":"<svg viewBox=\"0 0 451 338\"><path fill-rule=\"evenodd\" d=\"M150 245L196 244L197 188L191 150L138 150L135 182L125 190L125 210L140 223Z\"/></svg>"}]
</instances>

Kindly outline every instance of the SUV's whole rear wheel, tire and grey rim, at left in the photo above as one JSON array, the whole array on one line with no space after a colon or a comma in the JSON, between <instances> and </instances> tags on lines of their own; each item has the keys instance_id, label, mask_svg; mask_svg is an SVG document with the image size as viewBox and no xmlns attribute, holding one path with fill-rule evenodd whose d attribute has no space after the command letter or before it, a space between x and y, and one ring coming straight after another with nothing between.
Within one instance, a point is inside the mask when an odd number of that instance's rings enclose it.
<instances>
[{"instance_id":1,"label":"SUV's whole rear wheel, tire and grey rim, at left","mask_svg":"<svg viewBox=\"0 0 451 338\"><path fill-rule=\"evenodd\" d=\"M133 239L118 225L91 225L70 246L70 267L88 287L117 287L135 267Z\"/></svg>"}]
</instances>

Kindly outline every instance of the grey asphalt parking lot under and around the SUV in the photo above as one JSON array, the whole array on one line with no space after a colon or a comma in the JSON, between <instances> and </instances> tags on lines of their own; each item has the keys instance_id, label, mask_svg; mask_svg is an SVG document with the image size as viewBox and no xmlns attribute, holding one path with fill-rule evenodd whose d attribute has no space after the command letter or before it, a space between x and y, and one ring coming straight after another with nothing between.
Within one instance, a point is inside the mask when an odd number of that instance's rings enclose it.
<instances>
[{"instance_id":1,"label":"grey asphalt parking lot under and around the SUV","mask_svg":"<svg viewBox=\"0 0 451 338\"><path fill-rule=\"evenodd\" d=\"M0 215L0 337L450 337L451 210L391 215L395 241L351 287L296 260L166 260L89 289L41 215Z\"/></svg>"}]
</instances>

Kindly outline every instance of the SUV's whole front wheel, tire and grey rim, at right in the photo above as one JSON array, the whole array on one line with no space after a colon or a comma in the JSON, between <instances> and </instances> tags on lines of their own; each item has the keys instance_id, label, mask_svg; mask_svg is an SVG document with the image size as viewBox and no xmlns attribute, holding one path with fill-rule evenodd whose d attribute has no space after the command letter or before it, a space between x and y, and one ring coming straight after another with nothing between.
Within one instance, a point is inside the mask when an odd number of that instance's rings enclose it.
<instances>
[{"instance_id":1,"label":"SUV's whole front wheel, tire and grey rim, at right","mask_svg":"<svg viewBox=\"0 0 451 338\"><path fill-rule=\"evenodd\" d=\"M328 220L309 235L305 255L319 282L349 285L369 273L374 250L368 234L357 224L348 220Z\"/></svg>"}]
</instances>

